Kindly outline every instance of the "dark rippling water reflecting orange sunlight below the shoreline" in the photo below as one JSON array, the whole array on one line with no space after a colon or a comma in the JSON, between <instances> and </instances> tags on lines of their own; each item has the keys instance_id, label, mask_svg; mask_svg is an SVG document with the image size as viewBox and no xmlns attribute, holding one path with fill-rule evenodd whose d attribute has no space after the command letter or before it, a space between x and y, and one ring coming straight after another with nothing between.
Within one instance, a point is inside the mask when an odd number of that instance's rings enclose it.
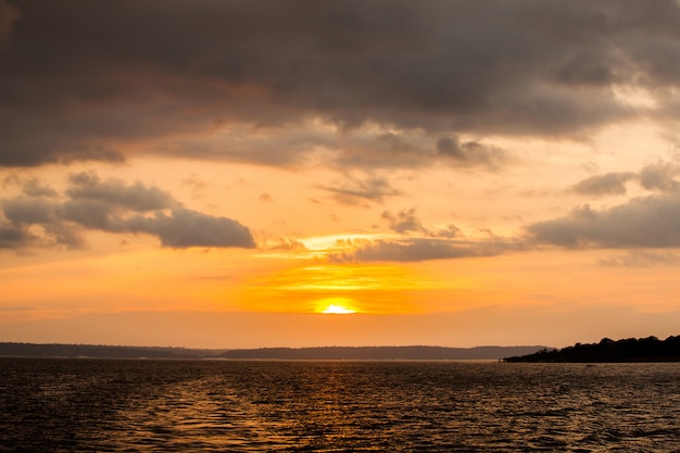
<instances>
[{"instance_id":1,"label":"dark rippling water reflecting orange sunlight below the shoreline","mask_svg":"<svg viewBox=\"0 0 680 453\"><path fill-rule=\"evenodd\" d=\"M680 364L0 358L0 450L680 452Z\"/></svg>"}]
</instances>

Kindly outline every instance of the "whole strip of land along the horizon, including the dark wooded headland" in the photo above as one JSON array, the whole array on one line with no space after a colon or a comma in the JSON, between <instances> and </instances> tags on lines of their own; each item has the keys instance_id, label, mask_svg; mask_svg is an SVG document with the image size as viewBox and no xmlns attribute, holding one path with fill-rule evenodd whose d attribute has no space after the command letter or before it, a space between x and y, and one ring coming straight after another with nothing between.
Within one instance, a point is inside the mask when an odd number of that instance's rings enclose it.
<instances>
[{"instance_id":1,"label":"whole strip of land along the horizon, including the dark wooded headland","mask_svg":"<svg viewBox=\"0 0 680 453\"><path fill-rule=\"evenodd\" d=\"M0 357L250 360L250 361L458 361L505 363L654 363L680 362L680 336L608 338L564 349L541 345L449 348L316 347L259 349L187 349L62 343L0 342Z\"/></svg>"}]
</instances>

